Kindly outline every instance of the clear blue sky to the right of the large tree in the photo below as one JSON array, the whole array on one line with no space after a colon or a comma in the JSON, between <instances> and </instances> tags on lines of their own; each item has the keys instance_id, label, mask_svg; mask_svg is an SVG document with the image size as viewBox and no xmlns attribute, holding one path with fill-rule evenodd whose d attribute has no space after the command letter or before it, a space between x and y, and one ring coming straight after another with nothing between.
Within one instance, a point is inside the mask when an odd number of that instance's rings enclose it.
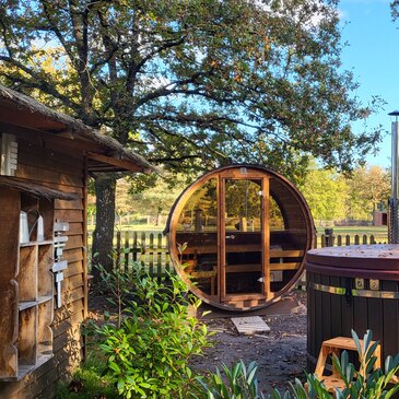
<instances>
[{"instance_id":1,"label":"clear blue sky to the right of the large tree","mask_svg":"<svg viewBox=\"0 0 399 399\"><path fill-rule=\"evenodd\" d=\"M399 109L399 21L394 23L387 0L341 0L341 60L351 70L360 87L354 94L367 104L380 96L384 109L369 118L369 126L382 125L387 134L377 156L367 156L369 165L390 167L390 125L388 113ZM354 127L356 128L356 127Z\"/></svg>"}]
</instances>

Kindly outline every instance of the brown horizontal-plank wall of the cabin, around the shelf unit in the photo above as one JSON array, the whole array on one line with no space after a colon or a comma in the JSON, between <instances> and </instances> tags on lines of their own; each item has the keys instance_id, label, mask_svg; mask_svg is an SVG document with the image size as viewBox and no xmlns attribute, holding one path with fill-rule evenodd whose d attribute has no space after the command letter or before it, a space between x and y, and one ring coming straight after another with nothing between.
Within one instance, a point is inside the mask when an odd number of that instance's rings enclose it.
<instances>
[{"instance_id":1,"label":"brown horizontal-plank wall of the cabin, around the shelf unit","mask_svg":"<svg viewBox=\"0 0 399 399\"><path fill-rule=\"evenodd\" d=\"M86 316L86 169L82 152L66 149L57 140L17 137L15 177L64 192L79 199L55 200L54 219L69 222L63 258L68 269L62 281L62 307L54 310L54 357L19 382L0 383L0 398L52 398L56 380L68 375L83 357L84 341L80 324ZM1 211L0 211L1 212ZM56 301L55 301L56 303Z\"/></svg>"}]
</instances>

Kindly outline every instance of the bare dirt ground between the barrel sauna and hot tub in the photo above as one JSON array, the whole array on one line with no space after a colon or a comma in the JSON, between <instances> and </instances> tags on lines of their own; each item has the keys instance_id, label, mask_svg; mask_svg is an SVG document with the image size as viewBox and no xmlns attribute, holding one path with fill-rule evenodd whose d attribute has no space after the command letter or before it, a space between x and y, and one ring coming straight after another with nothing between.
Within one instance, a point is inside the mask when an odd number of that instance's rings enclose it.
<instances>
[{"instance_id":1,"label":"bare dirt ground between the barrel sauna and hot tub","mask_svg":"<svg viewBox=\"0 0 399 399\"><path fill-rule=\"evenodd\" d=\"M240 359L258 364L259 386L263 394L275 387L285 391L287 382L303 379L306 369L306 306L297 314L263 316L271 331L268 335L239 336L228 317L208 319L214 347L203 357L198 357L192 367L214 372L222 363L232 365Z\"/></svg>"}]
</instances>

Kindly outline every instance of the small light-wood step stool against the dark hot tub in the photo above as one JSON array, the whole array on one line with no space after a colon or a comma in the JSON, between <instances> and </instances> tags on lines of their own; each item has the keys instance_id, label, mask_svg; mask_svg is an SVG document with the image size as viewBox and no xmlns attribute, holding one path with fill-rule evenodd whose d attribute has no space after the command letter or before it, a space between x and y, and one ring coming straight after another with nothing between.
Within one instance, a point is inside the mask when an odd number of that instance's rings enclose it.
<instances>
[{"instance_id":1,"label":"small light-wood step stool against the dark hot tub","mask_svg":"<svg viewBox=\"0 0 399 399\"><path fill-rule=\"evenodd\" d=\"M372 341L373 344L375 341ZM361 347L363 348L363 340L360 340ZM345 384L341 379L338 371L332 366L332 375L324 376L326 361L327 357L335 353L337 356L340 355L341 351L357 351L354 340L352 338L347 337L337 337L324 341L321 344L320 353L317 360L315 374L318 379L322 380L327 390L329 392L333 392L335 388L343 389ZM378 344L375 349L374 355L377 357L376 362L374 363L374 369L379 368L382 365L382 349Z\"/></svg>"}]
</instances>

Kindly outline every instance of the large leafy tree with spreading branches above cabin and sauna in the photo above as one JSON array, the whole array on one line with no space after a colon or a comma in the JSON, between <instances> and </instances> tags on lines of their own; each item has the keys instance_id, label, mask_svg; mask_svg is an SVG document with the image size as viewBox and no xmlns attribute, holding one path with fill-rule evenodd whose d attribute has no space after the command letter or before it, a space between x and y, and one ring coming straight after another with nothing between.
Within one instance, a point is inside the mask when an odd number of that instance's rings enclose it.
<instances>
[{"instance_id":1,"label":"large leafy tree with spreading branches above cabin and sauna","mask_svg":"<svg viewBox=\"0 0 399 399\"><path fill-rule=\"evenodd\" d=\"M309 154L347 171L379 139L351 130L374 105L341 70L336 1L0 1L2 81L168 169L244 161L297 179ZM115 180L96 181L106 263Z\"/></svg>"}]
</instances>

